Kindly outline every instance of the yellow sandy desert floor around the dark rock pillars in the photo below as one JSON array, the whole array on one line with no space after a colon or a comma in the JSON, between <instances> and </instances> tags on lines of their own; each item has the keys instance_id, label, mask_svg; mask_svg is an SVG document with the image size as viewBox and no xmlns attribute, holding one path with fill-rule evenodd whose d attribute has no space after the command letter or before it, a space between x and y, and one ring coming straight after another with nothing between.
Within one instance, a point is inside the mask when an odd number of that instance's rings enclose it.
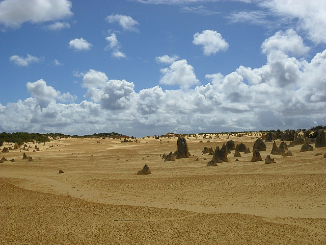
<instances>
[{"instance_id":1,"label":"yellow sandy desert floor around the dark rock pillars","mask_svg":"<svg viewBox=\"0 0 326 245\"><path fill-rule=\"evenodd\" d=\"M252 150L256 137L230 139ZM204 146L227 140L187 138L194 156L174 162L160 155L177 138L66 138L0 153L15 160L0 163L0 244L326 244L326 148L297 145L273 164L231 151L207 167ZM145 164L152 174L136 175Z\"/></svg>"}]
</instances>

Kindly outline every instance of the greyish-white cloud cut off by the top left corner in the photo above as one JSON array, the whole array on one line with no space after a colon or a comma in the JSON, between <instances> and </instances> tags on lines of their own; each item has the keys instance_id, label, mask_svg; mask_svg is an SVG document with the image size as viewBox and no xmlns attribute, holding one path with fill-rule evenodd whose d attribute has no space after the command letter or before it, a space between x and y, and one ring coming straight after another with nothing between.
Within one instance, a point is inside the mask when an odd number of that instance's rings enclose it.
<instances>
[{"instance_id":1,"label":"greyish-white cloud cut off by the top left corner","mask_svg":"<svg viewBox=\"0 0 326 245\"><path fill-rule=\"evenodd\" d=\"M67 0L5 0L0 2L0 23L19 28L24 22L39 23L73 15Z\"/></svg>"}]
</instances>

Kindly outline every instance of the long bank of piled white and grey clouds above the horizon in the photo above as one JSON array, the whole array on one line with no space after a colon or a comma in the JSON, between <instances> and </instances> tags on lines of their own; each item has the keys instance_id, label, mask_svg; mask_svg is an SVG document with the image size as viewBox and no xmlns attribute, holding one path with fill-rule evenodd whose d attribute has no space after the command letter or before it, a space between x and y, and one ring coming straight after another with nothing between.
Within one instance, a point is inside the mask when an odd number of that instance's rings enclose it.
<instances>
[{"instance_id":1,"label":"long bank of piled white and grey clouds above the horizon","mask_svg":"<svg viewBox=\"0 0 326 245\"><path fill-rule=\"evenodd\" d=\"M292 29L275 33L261 48L267 60L263 66L239 66L226 76L207 74L202 85L187 60L156 57L167 65L160 83L179 86L170 90L157 85L136 92L132 82L89 69L82 78L85 100L79 104L73 103L76 96L42 79L29 82L31 97L0 104L0 131L144 136L325 125L326 50L303 58L309 48Z\"/></svg>"}]
</instances>

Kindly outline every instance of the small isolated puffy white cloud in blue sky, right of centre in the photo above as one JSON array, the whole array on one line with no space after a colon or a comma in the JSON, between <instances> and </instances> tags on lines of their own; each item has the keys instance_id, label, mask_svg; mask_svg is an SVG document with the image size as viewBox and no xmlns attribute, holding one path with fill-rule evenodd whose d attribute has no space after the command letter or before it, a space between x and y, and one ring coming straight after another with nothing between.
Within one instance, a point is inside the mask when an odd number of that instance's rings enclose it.
<instances>
[{"instance_id":1,"label":"small isolated puffy white cloud in blue sky, right of centre","mask_svg":"<svg viewBox=\"0 0 326 245\"><path fill-rule=\"evenodd\" d=\"M202 33L194 34L193 43L202 45L204 54L209 56L219 51L226 51L229 44L222 38L222 35L216 31L204 30Z\"/></svg>"}]
</instances>

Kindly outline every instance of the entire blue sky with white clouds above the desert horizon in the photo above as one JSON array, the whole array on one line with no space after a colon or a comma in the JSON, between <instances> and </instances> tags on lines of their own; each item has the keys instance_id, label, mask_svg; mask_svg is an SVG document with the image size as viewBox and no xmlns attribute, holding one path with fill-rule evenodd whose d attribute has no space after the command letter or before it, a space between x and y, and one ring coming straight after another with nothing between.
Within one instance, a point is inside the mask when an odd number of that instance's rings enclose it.
<instances>
[{"instance_id":1,"label":"entire blue sky with white clouds above the desert horizon","mask_svg":"<svg viewBox=\"0 0 326 245\"><path fill-rule=\"evenodd\" d=\"M0 132L326 125L324 0L2 0Z\"/></svg>"}]
</instances>

